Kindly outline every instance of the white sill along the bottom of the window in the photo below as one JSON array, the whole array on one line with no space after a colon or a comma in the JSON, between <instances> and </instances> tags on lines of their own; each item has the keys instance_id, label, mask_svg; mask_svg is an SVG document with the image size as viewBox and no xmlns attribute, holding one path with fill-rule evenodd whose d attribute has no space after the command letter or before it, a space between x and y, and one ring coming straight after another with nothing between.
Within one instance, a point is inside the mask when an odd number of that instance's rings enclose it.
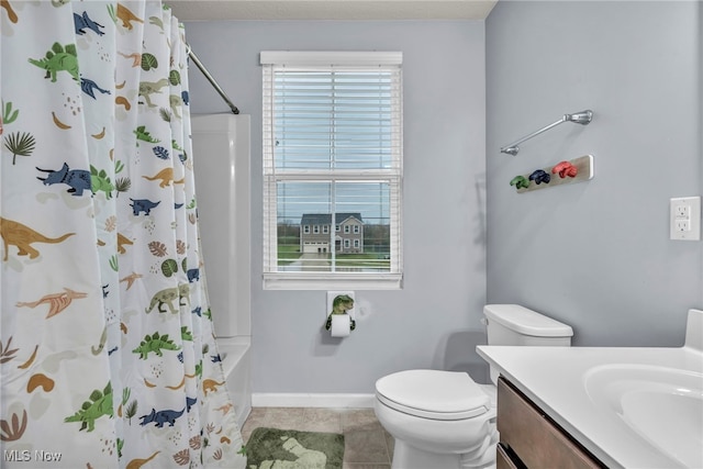
<instances>
[{"instance_id":1,"label":"white sill along the bottom of the window","mask_svg":"<svg viewBox=\"0 0 703 469\"><path fill-rule=\"evenodd\" d=\"M264 290L401 290L402 273L264 273Z\"/></svg>"}]
</instances>

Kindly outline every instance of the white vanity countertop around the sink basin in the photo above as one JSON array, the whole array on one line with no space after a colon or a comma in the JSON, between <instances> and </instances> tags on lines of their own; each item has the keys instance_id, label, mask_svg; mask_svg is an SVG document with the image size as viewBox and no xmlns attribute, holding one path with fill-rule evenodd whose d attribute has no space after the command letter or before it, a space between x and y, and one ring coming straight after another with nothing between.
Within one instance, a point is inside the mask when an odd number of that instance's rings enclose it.
<instances>
[{"instance_id":1,"label":"white vanity countertop around the sink basin","mask_svg":"<svg viewBox=\"0 0 703 469\"><path fill-rule=\"evenodd\" d=\"M624 425L615 412L596 405L587 392L585 377L593 368L609 365L665 367L703 373L700 350L690 347L533 346L479 346L477 350L610 468L684 467ZM703 420L703 416L693 416L699 417ZM701 448L703 446L699 446Z\"/></svg>"}]
</instances>

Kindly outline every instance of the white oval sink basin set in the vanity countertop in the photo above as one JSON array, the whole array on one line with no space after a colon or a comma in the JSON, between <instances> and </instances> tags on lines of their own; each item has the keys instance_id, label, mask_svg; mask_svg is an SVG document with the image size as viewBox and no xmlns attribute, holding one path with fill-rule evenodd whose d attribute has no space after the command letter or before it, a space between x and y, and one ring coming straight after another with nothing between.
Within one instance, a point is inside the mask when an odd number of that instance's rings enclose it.
<instances>
[{"instance_id":1,"label":"white oval sink basin set in the vanity countertop","mask_svg":"<svg viewBox=\"0 0 703 469\"><path fill-rule=\"evenodd\" d=\"M648 365L603 365L584 375L591 401L672 462L703 467L703 373Z\"/></svg>"}]
</instances>

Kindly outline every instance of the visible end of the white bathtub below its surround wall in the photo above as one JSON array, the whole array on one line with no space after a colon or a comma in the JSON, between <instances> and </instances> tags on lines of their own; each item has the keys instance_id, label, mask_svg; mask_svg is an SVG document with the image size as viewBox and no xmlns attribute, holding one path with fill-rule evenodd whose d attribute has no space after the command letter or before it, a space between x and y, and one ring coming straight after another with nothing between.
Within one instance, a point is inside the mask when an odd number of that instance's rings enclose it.
<instances>
[{"instance_id":1,"label":"visible end of the white bathtub below its surround wall","mask_svg":"<svg viewBox=\"0 0 703 469\"><path fill-rule=\"evenodd\" d=\"M217 337L217 351L227 390L237 416L239 428L252 412L250 351L252 337Z\"/></svg>"}]
</instances>

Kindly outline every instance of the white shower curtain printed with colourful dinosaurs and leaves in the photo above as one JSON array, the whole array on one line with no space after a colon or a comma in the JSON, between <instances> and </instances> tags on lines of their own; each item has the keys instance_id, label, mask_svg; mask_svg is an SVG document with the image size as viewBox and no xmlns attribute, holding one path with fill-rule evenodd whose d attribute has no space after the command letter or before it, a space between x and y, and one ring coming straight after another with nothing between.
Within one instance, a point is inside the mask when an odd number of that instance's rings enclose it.
<instances>
[{"instance_id":1,"label":"white shower curtain printed with colourful dinosaurs and leaves","mask_svg":"<svg viewBox=\"0 0 703 469\"><path fill-rule=\"evenodd\" d=\"M160 1L0 7L0 466L244 467L182 26Z\"/></svg>"}]
</instances>

